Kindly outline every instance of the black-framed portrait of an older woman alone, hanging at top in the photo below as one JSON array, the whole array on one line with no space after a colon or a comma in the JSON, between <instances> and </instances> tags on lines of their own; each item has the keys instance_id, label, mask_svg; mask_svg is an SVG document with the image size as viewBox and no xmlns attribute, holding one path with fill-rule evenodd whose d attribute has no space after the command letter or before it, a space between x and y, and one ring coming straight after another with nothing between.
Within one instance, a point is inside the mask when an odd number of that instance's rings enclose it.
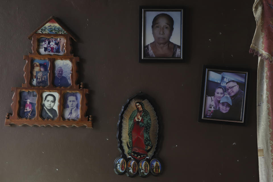
<instances>
[{"instance_id":1,"label":"black-framed portrait of an older woman alone, hanging at top","mask_svg":"<svg viewBox=\"0 0 273 182\"><path fill-rule=\"evenodd\" d=\"M139 7L139 62L183 62L183 9Z\"/></svg>"}]
</instances>

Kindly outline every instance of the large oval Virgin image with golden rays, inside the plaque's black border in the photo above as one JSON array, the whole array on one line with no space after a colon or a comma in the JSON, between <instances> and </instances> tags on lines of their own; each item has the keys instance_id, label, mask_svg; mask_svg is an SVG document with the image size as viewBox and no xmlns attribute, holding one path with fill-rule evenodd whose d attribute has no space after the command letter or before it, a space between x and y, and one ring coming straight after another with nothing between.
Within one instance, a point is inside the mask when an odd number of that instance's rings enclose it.
<instances>
[{"instance_id":1,"label":"large oval Virgin image with golden rays, inside the plaque's black border","mask_svg":"<svg viewBox=\"0 0 273 182\"><path fill-rule=\"evenodd\" d=\"M127 157L137 161L152 157L157 143L157 122L154 108L147 99L130 102L123 115L121 138Z\"/></svg>"}]
</instances>

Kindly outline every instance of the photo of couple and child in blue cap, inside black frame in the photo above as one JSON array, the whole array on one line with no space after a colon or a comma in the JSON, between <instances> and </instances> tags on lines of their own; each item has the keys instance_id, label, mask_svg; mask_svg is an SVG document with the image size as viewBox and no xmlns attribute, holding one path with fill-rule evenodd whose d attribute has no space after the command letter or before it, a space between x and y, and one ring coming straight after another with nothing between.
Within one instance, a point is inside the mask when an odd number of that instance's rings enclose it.
<instances>
[{"instance_id":1,"label":"photo of couple and child in blue cap, inside black frame","mask_svg":"<svg viewBox=\"0 0 273 182\"><path fill-rule=\"evenodd\" d=\"M243 122L247 72L207 70L202 119Z\"/></svg>"}]
</instances>

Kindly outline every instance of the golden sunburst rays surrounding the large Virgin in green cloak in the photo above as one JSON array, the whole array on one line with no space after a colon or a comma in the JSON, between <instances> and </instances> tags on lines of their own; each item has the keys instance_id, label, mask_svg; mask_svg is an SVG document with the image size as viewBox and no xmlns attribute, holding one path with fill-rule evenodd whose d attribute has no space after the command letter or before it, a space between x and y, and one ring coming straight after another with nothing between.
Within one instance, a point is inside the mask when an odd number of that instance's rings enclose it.
<instances>
[{"instance_id":1,"label":"golden sunburst rays surrounding the large Virgin in green cloak","mask_svg":"<svg viewBox=\"0 0 273 182\"><path fill-rule=\"evenodd\" d=\"M129 141L129 136L128 136L129 117L131 116L132 112L136 110L136 106L135 106L136 102L142 102L144 104L144 108L150 114L150 118L151 118L150 140L152 142L153 147L148 153L148 157L152 158L156 148L156 144L157 144L158 120L157 120L156 112L154 111L153 106L147 99L145 100L133 99L131 100L130 104L125 110L123 114L123 119L122 119L122 131L121 131L122 146L124 148L124 152L126 156L129 157L129 155L127 154L128 152L127 142Z\"/></svg>"}]
</instances>

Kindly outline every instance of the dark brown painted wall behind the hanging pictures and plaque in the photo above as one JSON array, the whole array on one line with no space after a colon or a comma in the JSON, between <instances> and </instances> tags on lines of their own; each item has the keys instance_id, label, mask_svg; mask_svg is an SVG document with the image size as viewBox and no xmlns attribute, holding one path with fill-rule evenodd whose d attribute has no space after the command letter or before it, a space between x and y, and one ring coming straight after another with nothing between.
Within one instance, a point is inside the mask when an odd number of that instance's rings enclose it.
<instances>
[{"instance_id":1,"label":"dark brown painted wall behind the hanging pictures and plaque","mask_svg":"<svg viewBox=\"0 0 273 182\"><path fill-rule=\"evenodd\" d=\"M257 57L248 53L256 27L253 2L2 1L0 181L259 181ZM139 5L187 7L186 63L138 63ZM91 91L88 114L94 115L94 129L4 126L11 87L24 82L22 58L31 51L27 36L51 15L82 40L74 51L80 81ZM203 64L252 69L245 127L197 122ZM160 105L160 177L131 179L113 170L119 112L139 91Z\"/></svg>"}]
</instances>

